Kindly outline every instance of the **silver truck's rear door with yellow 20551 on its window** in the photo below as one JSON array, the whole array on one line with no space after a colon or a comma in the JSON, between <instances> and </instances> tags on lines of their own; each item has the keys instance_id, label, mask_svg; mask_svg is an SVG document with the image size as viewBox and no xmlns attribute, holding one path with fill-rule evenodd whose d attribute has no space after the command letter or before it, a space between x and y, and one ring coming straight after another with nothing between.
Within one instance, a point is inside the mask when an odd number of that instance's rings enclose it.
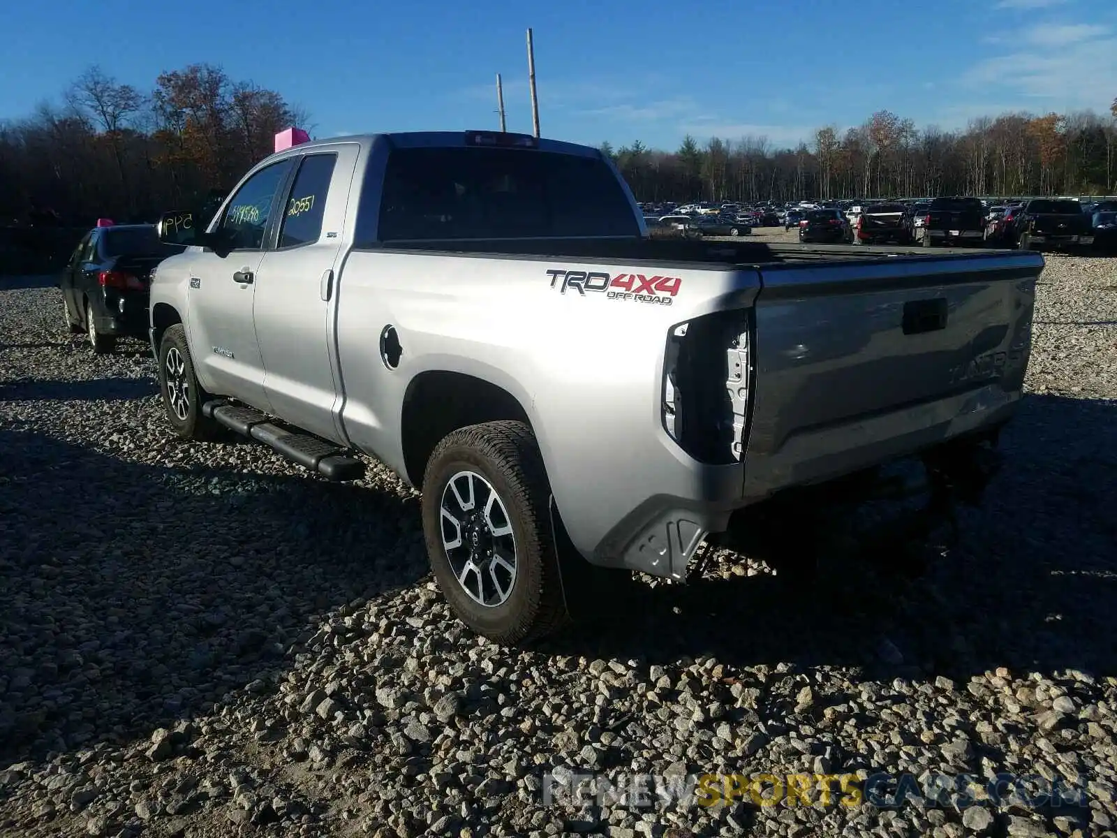
<instances>
[{"instance_id":1,"label":"silver truck's rear door with yellow 20551 on its window","mask_svg":"<svg viewBox=\"0 0 1117 838\"><path fill-rule=\"evenodd\" d=\"M297 160L276 248L264 255L254 303L264 389L273 411L335 441L344 436L336 417L342 389L334 301L359 147L341 143Z\"/></svg>"}]
</instances>

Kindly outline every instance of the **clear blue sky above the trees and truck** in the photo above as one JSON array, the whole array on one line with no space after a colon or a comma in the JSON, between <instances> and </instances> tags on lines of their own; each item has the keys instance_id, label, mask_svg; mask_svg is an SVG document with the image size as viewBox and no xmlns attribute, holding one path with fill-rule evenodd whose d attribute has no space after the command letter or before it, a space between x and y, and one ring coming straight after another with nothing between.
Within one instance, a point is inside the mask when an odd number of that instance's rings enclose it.
<instances>
[{"instance_id":1,"label":"clear blue sky above the trees and truck","mask_svg":"<svg viewBox=\"0 0 1117 838\"><path fill-rule=\"evenodd\" d=\"M279 91L312 133L531 131L676 147L689 133L776 145L888 108L917 124L1094 108L1117 96L1113 0L49 0L0 3L0 118L88 65L149 88L192 61Z\"/></svg>"}]
</instances>

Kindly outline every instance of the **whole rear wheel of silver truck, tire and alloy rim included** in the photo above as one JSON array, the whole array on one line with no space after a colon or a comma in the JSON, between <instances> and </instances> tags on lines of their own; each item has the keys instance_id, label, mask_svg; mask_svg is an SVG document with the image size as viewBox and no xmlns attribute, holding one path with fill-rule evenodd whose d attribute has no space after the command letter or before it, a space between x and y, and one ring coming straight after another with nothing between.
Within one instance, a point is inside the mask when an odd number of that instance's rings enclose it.
<instances>
[{"instance_id":1,"label":"whole rear wheel of silver truck, tire and alloy rim included","mask_svg":"<svg viewBox=\"0 0 1117 838\"><path fill-rule=\"evenodd\" d=\"M515 645L566 618L543 457L523 422L471 425L427 463L427 554L450 609L478 635Z\"/></svg>"}]
</instances>

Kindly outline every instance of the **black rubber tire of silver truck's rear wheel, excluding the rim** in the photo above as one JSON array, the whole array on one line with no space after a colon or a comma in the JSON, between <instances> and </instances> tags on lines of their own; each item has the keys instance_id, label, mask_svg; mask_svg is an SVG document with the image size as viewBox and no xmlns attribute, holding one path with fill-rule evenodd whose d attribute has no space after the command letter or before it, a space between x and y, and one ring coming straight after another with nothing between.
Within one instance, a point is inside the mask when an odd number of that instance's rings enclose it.
<instances>
[{"instance_id":1,"label":"black rubber tire of silver truck's rear wheel, excluding the rim","mask_svg":"<svg viewBox=\"0 0 1117 838\"><path fill-rule=\"evenodd\" d=\"M493 486L507 511L515 539L515 581L507 600L497 606L484 606L462 589L443 546L443 492L450 478L464 470L484 477ZM567 620L550 499L543 456L535 435L523 422L460 428L442 439L427 461L422 522L431 570L458 619L495 642L526 644L553 634Z\"/></svg>"}]
</instances>

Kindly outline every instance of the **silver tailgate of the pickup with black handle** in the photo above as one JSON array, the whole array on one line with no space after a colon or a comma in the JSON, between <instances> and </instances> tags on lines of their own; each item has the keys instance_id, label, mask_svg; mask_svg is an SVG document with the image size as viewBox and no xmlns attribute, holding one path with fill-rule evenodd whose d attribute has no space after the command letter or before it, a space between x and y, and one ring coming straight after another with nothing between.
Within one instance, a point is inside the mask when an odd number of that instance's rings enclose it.
<instances>
[{"instance_id":1,"label":"silver tailgate of the pickup with black handle","mask_svg":"<svg viewBox=\"0 0 1117 838\"><path fill-rule=\"evenodd\" d=\"M746 497L1008 418L1042 269L1024 253L762 268Z\"/></svg>"}]
</instances>

